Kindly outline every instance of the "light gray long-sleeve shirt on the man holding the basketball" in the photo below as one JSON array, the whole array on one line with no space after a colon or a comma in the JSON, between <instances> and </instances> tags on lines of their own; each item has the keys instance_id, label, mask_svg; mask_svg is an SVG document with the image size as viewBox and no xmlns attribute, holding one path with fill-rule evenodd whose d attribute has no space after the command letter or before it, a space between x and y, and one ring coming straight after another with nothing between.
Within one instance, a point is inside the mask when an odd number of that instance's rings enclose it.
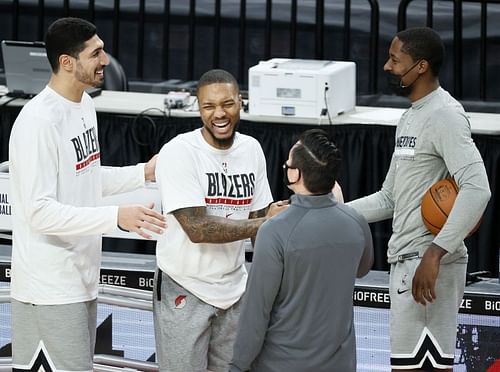
<instances>
[{"instance_id":1,"label":"light gray long-sleeve shirt on the man holding the basketball","mask_svg":"<svg viewBox=\"0 0 500 372\"><path fill-rule=\"evenodd\" d=\"M420 203L436 181L453 176L459 196L441 232L434 237L423 224ZM463 243L480 219L490 191L483 160L462 105L442 88L403 114L382 189L348 203L368 222L393 218L389 263L402 255L419 256L434 242L448 251L442 263L467 259Z\"/></svg>"}]
</instances>

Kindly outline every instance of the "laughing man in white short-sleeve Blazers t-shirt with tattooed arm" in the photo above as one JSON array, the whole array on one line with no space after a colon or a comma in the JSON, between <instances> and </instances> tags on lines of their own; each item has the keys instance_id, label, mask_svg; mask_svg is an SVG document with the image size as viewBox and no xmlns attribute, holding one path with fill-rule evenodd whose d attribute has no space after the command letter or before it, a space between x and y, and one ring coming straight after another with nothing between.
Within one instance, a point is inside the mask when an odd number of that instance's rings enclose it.
<instances>
[{"instance_id":1,"label":"laughing man in white short-sleeve Blazers t-shirt with tattooed arm","mask_svg":"<svg viewBox=\"0 0 500 372\"><path fill-rule=\"evenodd\" d=\"M169 224L158 241L154 296L162 371L227 371L247 280L243 240L284 208L267 212L272 195L261 146L236 132L234 77L208 71L197 95L203 127L167 143L156 168Z\"/></svg>"}]
</instances>

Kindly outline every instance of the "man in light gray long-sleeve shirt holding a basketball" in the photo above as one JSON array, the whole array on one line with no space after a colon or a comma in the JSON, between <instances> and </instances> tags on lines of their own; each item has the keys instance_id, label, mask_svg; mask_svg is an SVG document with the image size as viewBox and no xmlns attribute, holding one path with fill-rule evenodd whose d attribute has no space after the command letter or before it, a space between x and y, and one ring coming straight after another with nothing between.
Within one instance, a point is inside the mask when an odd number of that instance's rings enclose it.
<instances>
[{"instance_id":1,"label":"man in light gray long-sleeve shirt holding a basketball","mask_svg":"<svg viewBox=\"0 0 500 372\"><path fill-rule=\"evenodd\" d=\"M467 266L463 240L490 198L464 109L439 86L443 57L443 43L430 28L401 31L393 39L384 69L396 92L412 104L397 126L382 189L348 203L368 222L393 219L387 251L393 370L452 370ZM432 184L450 176L458 196L433 236L423 224L420 204Z\"/></svg>"}]
</instances>

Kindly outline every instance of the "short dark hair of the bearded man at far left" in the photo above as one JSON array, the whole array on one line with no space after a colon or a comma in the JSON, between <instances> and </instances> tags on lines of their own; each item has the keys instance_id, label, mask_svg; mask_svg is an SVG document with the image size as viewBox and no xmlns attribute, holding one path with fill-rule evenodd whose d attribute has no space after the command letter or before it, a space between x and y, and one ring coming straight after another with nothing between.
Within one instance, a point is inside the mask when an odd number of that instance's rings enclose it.
<instances>
[{"instance_id":1,"label":"short dark hair of the bearded man at far left","mask_svg":"<svg viewBox=\"0 0 500 372\"><path fill-rule=\"evenodd\" d=\"M45 35L45 49L52 71L59 71L59 57L62 54L78 58L85 49L85 42L97 33L97 28L81 18L60 18L53 22Z\"/></svg>"}]
</instances>

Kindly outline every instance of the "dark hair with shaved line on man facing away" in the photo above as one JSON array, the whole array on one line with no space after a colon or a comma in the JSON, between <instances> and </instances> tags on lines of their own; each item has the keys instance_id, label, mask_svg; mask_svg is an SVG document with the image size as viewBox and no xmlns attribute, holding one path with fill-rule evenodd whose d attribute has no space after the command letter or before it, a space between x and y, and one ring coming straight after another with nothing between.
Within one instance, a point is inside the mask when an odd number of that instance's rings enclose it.
<instances>
[{"instance_id":1,"label":"dark hair with shaved line on man facing away","mask_svg":"<svg viewBox=\"0 0 500 372\"><path fill-rule=\"evenodd\" d=\"M340 166L340 151L322 129L302 133L292 150L292 165L300 170L304 186L313 194L332 191Z\"/></svg>"}]
</instances>

